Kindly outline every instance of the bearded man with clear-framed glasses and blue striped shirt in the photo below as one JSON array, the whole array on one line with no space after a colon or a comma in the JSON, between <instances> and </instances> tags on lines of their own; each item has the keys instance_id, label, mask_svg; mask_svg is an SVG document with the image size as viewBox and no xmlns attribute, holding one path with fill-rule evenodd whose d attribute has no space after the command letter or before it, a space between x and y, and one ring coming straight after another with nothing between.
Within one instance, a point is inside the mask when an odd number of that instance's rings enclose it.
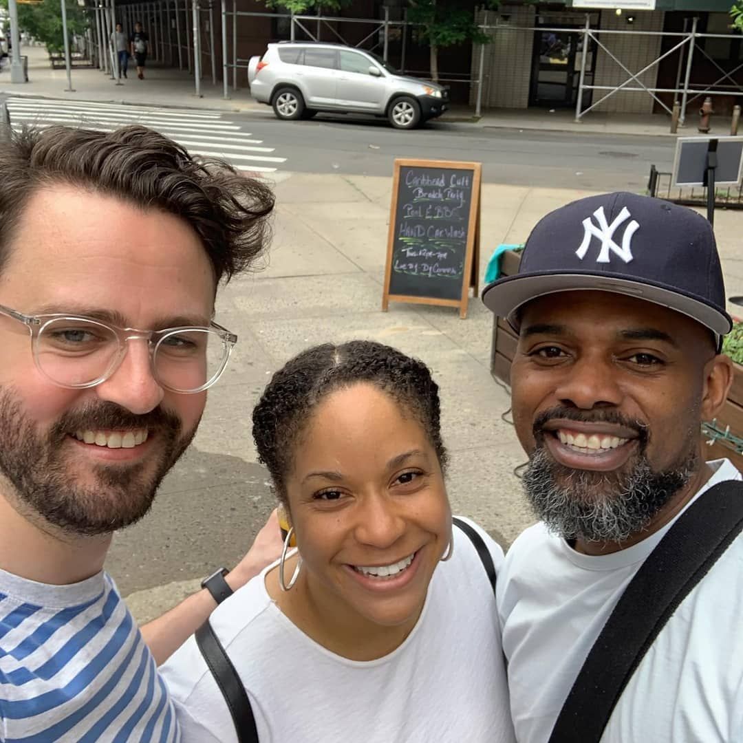
<instances>
[{"instance_id":1,"label":"bearded man with clear-framed glasses and blue striped shirt","mask_svg":"<svg viewBox=\"0 0 743 743\"><path fill-rule=\"evenodd\" d=\"M278 528L141 633L103 562L195 435L273 195L138 126L16 134L0 172L0 739L175 741L156 663Z\"/></svg>"}]
</instances>

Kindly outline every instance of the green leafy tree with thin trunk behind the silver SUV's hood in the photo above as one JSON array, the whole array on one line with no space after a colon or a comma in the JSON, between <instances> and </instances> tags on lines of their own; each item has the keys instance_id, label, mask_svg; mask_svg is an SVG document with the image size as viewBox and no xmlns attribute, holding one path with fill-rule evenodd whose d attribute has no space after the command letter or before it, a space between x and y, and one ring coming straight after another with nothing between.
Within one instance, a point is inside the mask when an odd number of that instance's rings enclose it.
<instances>
[{"instance_id":1,"label":"green leafy tree with thin trunk behind the silver SUV's hood","mask_svg":"<svg viewBox=\"0 0 743 743\"><path fill-rule=\"evenodd\" d=\"M458 0L408 0L408 3L409 22L420 24L413 32L414 36L429 45L431 78L435 82L438 82L439 49L464 42L490 42L490 36L476 24L473 9L461 7ZM485 3L487 8L498 5L499 0L487 0Z\"/></svg>"}]
</instances>

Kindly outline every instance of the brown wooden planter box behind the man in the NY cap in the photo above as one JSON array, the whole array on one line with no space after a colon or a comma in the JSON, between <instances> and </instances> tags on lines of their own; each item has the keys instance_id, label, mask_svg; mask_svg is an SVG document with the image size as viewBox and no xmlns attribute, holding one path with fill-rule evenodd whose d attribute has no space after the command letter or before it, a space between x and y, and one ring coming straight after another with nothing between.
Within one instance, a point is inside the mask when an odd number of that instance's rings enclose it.
<instances>
[{"instance_id":1,"label":"brown wooden planter box behind the man in the NY cap","mask_svg":"<svg viewBox=\"0 0 743 743\"><path fill-rule=\"evenodd\" d=\"M513 276L519 270L521 254L507 250L501 259L501 273L503 276ZM510 384L510 365L516 353L516 334L502 317L493 318L493 345L490 348L490 374L506 384ZM743 438L743 366L736 364L733 386L724 408L716 419L716 428L724 431L730 426L730 431L737 437ZM727 446L723 441L707 444L709 437L704 439L704 458L728 458L743 471L743 455Z\"/></svg>"}]
</instances>

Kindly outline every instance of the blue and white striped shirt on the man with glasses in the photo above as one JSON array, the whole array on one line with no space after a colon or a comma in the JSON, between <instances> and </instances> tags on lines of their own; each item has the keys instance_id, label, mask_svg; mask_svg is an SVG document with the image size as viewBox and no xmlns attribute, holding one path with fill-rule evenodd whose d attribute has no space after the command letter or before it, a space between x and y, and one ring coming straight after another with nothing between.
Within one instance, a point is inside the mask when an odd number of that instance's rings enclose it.
<instances>
[{"instance_id":1,"label":"blue and white striped shirt on the man with glasses","mask_svg":"<svg viewBox=\"0 0 743 743\"><path fill-rule=\"evenodd\" d=\"M168 692L101 572L45 585L0 570L1 743L177 743Z\"/></svg>"}]
</instances>

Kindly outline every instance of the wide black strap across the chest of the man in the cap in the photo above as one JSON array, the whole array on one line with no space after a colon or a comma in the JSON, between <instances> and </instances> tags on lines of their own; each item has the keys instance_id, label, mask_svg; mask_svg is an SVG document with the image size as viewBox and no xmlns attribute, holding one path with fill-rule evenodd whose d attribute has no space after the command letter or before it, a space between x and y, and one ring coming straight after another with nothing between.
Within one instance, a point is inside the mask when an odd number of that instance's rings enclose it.
<instances>
[{"instance_id":1,"label":"wide black strap across the chest of the man in the cap","mask_svg":"<svg viewBox=\"0 0 743 743\"><path fill-rule=\"evenodd\" d=\"M743 529L743 482L720 482L679 517L640 565L583 663L549 743L598 743L666 621Z\"/></svg>"}]
</instances>

